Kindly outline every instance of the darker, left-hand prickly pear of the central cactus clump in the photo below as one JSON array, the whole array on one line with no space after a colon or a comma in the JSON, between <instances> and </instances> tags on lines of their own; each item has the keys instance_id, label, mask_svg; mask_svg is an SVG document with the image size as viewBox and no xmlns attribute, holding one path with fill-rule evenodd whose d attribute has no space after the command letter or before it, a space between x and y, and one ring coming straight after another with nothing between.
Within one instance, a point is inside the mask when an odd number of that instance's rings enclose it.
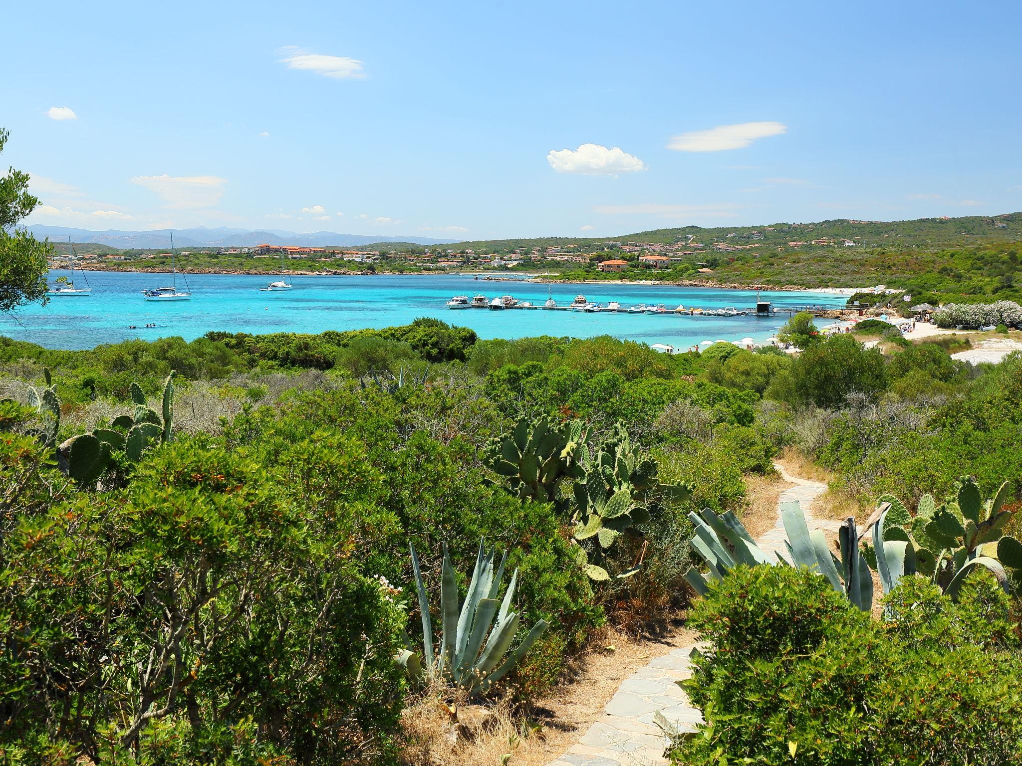
<instances>
[{"instance_id":1,"label":"darker, left-hand prickly pear of the central cactus clump","mask_svg":"<svg viewBox=\"0 0 1022 766\"><path fill-rule=\"evenodd\" d=\"M553 502L566 515L569 500L561 496L560 485L567 478L583 477L578 458L587 438L578 420L522 418L511 433L491 439L483 460L519 499Z\"/></svg>"}]
</instances>

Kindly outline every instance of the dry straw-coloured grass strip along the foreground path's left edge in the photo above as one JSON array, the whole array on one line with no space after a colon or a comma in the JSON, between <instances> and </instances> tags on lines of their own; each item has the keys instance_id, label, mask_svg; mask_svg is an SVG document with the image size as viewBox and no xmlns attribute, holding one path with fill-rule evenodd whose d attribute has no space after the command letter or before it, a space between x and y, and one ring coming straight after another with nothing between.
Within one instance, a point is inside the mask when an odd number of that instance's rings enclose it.
<instances>
[{"instance_id":1,"label":"dry straw-coloured grass strip along the foreground path's left edge","mask_svg":"<svg viewBox=\"0 0 1022 766\"><path fill-rule=\"evenodd\" d=\"M548 697L527 706L508 699L487 701L484 715L478 706L450 698L450 689L428 689L403 715L408 744L402 764L500 766L509 755L508 766L545 766L603 714L622 680L650 659L693 640L692 631L680 625L662 635L638 638L604 630L572 661ZM461 733L457 744L452 741L453 727Z\"/></svg>"}]
</instances>

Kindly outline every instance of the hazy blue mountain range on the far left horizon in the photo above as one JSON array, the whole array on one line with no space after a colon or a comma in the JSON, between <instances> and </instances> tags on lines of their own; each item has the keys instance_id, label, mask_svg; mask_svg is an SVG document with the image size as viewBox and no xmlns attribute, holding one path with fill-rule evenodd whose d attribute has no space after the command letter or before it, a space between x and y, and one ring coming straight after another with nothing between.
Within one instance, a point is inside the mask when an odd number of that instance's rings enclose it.
<instances>
[{"instance_id":1,"label":"hazy blue mountain range on the far left horizon","mask_svg":"<svg viewBox=\"0 0 1022 766\"><path fill-rule=\"evenodd\" d=\"M456 239L431 239L429 237L372 237L364 234L337 234L336 232L315 232L296 234L279 229L251 231L250 229L161 229L153 232L123 232L109 229L94 232L88 229L73 229L66 226L27 226L28 231L38 238L49 237L55 241L93 242L122 250L132 248L168 247L171 240L168 231L174 232L175 247L251 247L252 245L301 245L305 247L353 247L370 245L374 242L414 242L417 245L445 245L458 242Z\"/></svg>"}]
</instances>

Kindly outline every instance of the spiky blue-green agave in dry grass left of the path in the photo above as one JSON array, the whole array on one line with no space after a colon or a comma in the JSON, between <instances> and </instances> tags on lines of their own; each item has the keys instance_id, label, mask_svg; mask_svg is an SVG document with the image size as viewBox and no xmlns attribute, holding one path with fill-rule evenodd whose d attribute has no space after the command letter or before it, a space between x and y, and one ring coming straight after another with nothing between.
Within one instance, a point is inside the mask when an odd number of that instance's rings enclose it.
<instances>
[{"instance_id":1,"label":"spiky blue-green agave in dry grass left of the path","mask_svg":"<svg viewBox=\"0 0 1022 766\"><path fill-rule=\"evenodd\" d=\"M440 577L443 630L439 651L434 652L429 599L422 582L422 572L415 547L409 545L409 549L412 553L412 570L415 574L415 588L422 616L421 664L424 665L425 672L466 689L470 697L485 693L495 683L515 669L529 648L549 627L548 623L545 620L537 622L518 648L508 654L518 631L518 613L511 611L515 585L518 582L518 570L516 569L511 575L511 582L504 593L504 600L499 602L497 596L504 577L507 552L501 557L500 565L495 570L495 552L486 550L485 545L480 542L472 580L468 585L465 601L459 609L458 582L445 545ZM408 652L403 653L401 659L409 668L419 664L416 662L418 658Z\"/></svg>"}]
</instances>

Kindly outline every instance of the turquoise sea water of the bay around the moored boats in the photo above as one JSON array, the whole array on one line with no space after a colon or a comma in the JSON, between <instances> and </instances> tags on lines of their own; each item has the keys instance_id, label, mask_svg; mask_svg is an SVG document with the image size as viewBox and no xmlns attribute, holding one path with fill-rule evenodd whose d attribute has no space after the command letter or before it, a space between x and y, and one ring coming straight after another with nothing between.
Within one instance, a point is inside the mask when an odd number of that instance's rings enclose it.
<instances>
[{"instance_id":1,"label":"turquoise sea water of the bay around the moored boats","mask_svg":"<svg viewBox=\"0 0 1022 766\"><path fill-rule=\"evenodd\" d=\"M50 281L72 275L50 273ZM405 325L417 317L435 317L470 327L482 338L520 338L535 335L593 337L614 335L643 343L667 343L686 348L704 340L762 341L784 324L788 315L756 317L687 317L578 312L451 310L444 304L453 295L481 293L492 298L513 295L542 305L548 295L567 305L582 293L604 305L611 300L628 307L635 303L663 303L675 308L751 308L754 290L668 287L649 284L546 285L495 282L459 275L397 275L353 277L293 277L289 292L261 292L279 277L258 275L190 274L189 301L146 301L141 290L171 284L169 274L90 272L89 297L52 297L46 306L29 305L14 317L0 315L0 334L49 348L92 348L130 338L180 335L186 340L210 330L319 333ZM179 289L184 286L177 277ZM74 275L77 286L84 280ZM763 291L775 306L834 303L835 297L814 292ZM146 328L151 324L155 327ZM132 327L134 325L134 327Z\"/></svg>"}]
</instances>

